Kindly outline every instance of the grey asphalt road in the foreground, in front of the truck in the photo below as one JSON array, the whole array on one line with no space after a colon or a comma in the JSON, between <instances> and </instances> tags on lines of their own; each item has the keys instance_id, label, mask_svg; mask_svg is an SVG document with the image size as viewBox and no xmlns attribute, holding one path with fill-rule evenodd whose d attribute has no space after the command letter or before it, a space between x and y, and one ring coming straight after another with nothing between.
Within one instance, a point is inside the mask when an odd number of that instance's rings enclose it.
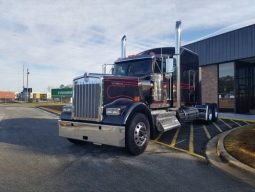
<instances>
[{"instance_id":1,"label":"grey asphalt road in the foreground, in front of the truck","mask_svg":"<svg viewBox=\"0 0 255 192\"><path fill-rule=\"evenodd\" d=\"M151 142L140 156L58 137L57 117L0 106L0 191L255 191L205 160Z\"/></svg>"}]
</instances>

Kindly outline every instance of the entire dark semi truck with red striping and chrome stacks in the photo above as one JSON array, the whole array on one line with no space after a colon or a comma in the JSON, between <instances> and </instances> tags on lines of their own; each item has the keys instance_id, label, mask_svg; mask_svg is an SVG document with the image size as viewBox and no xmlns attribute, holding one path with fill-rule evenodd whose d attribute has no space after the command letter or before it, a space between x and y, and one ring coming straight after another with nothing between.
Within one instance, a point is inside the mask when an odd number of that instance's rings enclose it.
<instances>
[{"instance_id":1,"label":"entire dark semi truck with red striping and chrome stacks","mask_svg":"<svg viewBox=\"0 0 255 192\"><path fill-rule=\"evenodd\" d=\"M63 107L59 135L80 141L125 147L133 155L148 141L183 123L216 121L215 103L201 104L198 55L180 46L181 22L176 22L176 46L121 57L112 74L84 73L73 80L72 103Z\"/></svg>"}]
</instances>

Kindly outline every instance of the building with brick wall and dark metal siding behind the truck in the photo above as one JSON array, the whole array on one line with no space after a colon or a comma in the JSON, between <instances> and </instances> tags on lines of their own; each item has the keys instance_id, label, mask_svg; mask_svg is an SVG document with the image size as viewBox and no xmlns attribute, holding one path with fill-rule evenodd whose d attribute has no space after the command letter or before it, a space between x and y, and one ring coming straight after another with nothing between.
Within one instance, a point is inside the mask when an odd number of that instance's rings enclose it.
<instances>
[{"instance_id":1,"label":"building with brick wall and dark metal siding behind the truck","mask_svg":"<svg viewBox=\"0 0 255 192\"><path fill-rule=\"evenodd\" d=\"M184 47L199 55L202 102L255 113L255 24Z\"/></svg>"}]
</instances>

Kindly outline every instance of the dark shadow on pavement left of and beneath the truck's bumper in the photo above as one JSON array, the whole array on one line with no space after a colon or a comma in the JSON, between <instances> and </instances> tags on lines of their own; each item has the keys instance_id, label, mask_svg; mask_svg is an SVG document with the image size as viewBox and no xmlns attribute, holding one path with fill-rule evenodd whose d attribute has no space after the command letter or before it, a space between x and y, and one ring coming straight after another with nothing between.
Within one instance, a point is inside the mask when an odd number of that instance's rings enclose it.
<instances>
[{"instance_id":1,"label":"dark shadow on pavement left of and beneath the truck's bumper","mask_svg":"<svg viewBox=\"0 0 255 192\"><path fill-rule=\"evenodd\" d=\"M70 143L58 136L56 119L18 118L0 122L0 144L8 143L25 147L36 153L49 155L89 154L91 156L130 156L124 148L94 145L84 142L81 145ZM24 150L24 149L23 149Z\"/></svg>"}]
</instances>

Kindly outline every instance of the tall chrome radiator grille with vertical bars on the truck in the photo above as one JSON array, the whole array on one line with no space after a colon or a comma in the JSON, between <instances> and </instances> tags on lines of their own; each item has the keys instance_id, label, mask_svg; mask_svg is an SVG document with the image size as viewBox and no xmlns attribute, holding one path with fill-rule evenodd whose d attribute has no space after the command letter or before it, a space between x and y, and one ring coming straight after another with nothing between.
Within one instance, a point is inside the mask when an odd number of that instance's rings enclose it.
<instances>
[{"instance_id":1,"label":"tall chrome radiator grille with vertical bars on the truck","mask_svg":"<svg viewBox=\"0 0 255 192\"><path fill-rule=\"evenodd\" d=\"M84 77L74 80L73 119L101 120L102 80L99 77Z\"/></svg>"}]
</instances>

